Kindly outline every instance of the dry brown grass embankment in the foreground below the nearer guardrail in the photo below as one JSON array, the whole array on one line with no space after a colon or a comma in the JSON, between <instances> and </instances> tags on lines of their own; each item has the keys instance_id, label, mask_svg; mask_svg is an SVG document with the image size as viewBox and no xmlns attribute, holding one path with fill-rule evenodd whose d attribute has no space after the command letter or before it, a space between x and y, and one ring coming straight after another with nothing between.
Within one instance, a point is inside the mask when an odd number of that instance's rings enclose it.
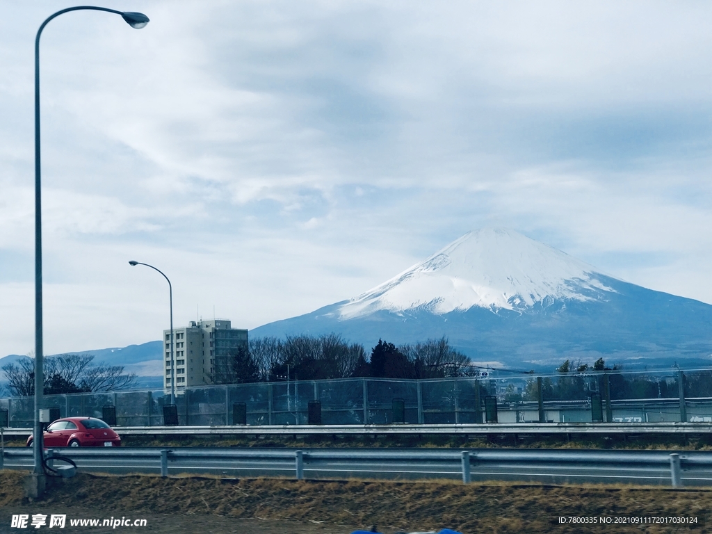
<instances>
[{"instance_id":1,"label":"dry brown grass embankment in the foreground below the nearer guardrail","mask_svg":"<svg viewBox=\"0 0 712 534\"><path fill-rule=\"evenodd\" d=\"M522 483L293 481L280 478L100 476L82 473L43 503L22 497L23 473L0 472L0 520L9 511L80 508L96 516L146 514L144 532L241 531L392 534L449 527L463 533L677 533L712 530L712 490L632 486L548 486ZM22 513L22 512L20 512ZM557 518L696 517L693 525L559 525ZM163 517L165 530L159 528ZM182 519L183 518L183 519ZM246 530L245 520L261 521ZM288 523L280 523L280 521ZM238 524L243 526L237 528ZM211 526L212 525L212 526ZM225 525L233 525L230 530ZM288 526L285 526L288 525ZM5 524L0 524L4 531ZM150 527L150 525L149 525ZM187 529L187 530L184 530ZM287 530L285 530L287 529ZM90 531L90 530L84 530ZM93 530L99 532L99 530ZM195 530L197 531L197 530Z\"/></svg>"}]
</instances>

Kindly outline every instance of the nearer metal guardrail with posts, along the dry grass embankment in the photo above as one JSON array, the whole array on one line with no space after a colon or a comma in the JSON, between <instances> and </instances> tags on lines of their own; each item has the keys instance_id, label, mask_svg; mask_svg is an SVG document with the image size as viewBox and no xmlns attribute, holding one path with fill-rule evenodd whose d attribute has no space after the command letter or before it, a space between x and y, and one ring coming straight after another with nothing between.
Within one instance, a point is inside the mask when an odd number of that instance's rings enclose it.
<instances>
[{"instance_id":1,"label":"nearer metal guardrail with posts, along the dry grass embankment","mask_svg":"<svg viewBox=\"0 0 712 534\"><path fill-rule=\"evenodd\" d=\"M58 456L58 450L47 452L48 458ZM0 468L4 459L31 457L29 449L5 449L0 455ZM155 460L159 464L162 476L168 476L169 463L179 467L182 462L192 461L269 461L289 462L293 465L295 478L305 478L305 464L310 471L318 471L320 462L338 461L340 464L356 464L357 462L375 461L388 466L399 464L431 464L441 462L448 466L460 466L463 483L470 483L472 468L483 466L506 466L526 464L530 467L561 467L581 468L595 466L600 469L621 471L624 469L653 466L657 469L669 469L671 486L682 485L681 472L683 468L706 468L712 472L712 453L704 451L681 451L670 454L669 451L572 451L548 449L469 449L464 451L446 451L443 449L417 450L355 450L355 449L211 449L211 448L177 448L177 449L61 449L62 456L70 459L142 459ZM323 468L328 471L328 468ZM358 471L355 469L355 471ZM712 474L712 473L711 473ZM615 478L614 476L612 478ZM712 478L710 479L712 481Z\"/></svg>"}]
</instances>

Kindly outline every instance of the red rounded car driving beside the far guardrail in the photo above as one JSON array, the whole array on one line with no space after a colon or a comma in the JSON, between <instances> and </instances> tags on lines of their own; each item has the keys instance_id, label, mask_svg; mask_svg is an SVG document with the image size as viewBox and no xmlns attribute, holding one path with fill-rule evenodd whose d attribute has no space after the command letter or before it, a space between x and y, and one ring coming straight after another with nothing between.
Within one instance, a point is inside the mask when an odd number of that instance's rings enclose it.
<instances>
[{"instance_id":1,"label":"red rounded car driving beside the far guardrail","mask_svg":"<svg viewBox=\"0 0 712 534\"><path fill-rule=\"evenodd\" d=\"M96 417L65 417L52 422L44 431L46 447L117 447L119 434ZM32 436L27 446L32 445Z\"/></svg>"}]
</instances>

